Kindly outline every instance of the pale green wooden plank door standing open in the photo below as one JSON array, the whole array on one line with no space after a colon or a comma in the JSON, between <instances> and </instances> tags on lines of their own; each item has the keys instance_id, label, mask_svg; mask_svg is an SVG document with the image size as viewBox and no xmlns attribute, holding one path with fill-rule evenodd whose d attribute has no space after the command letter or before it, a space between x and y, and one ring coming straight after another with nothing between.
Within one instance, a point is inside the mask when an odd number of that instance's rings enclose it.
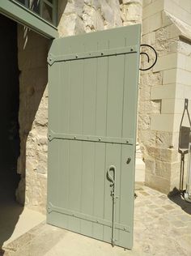
<instances>
[{"instance_id":1,"label":"pale green wooden plank door standing open","mask_svg":"<svg viewBox=\"0 0 191 256\"><path fill-rule=\"evenodd\" d=\"M140 25L53 41L49 224L132 248Z\"/></svg>"}]
</instances>

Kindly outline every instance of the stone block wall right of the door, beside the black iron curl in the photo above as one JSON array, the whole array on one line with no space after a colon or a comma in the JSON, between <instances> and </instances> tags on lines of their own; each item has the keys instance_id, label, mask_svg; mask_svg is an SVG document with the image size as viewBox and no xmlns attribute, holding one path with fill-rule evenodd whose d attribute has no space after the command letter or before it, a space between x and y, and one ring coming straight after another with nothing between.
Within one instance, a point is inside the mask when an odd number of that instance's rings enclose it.
<instances>
[{"instance_id":1,"label":"stone block wall right of the door, beside the black iron curl","mask_svg":"<svg viewBox=\"0 0 191 256\"><path fill-rule=\"evenodd\" d=\"M180 83L186 83L185 92L190 85L188 66L187 70L181 66L185 58L189 63L189 45L185 46L187 57L180 56L181 32L171 15L182 11L177 2L145 0L142 15L142 43L153 45L159 58L152 70L141 73L138 138L144 151L146 184L167 194L179 189L178 132L184 107Z\"/></svg>"}]
</instances>

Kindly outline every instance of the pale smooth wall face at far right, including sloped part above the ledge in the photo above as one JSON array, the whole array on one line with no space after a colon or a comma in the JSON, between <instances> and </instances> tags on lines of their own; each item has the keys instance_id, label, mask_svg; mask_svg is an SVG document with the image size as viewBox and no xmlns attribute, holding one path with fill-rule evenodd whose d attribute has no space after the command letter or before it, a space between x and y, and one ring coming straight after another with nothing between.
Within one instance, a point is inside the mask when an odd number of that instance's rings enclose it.
<instances>
[{"instance_id":1,"label":"pale smooth wall face at far right, including sloped part above the ledge","mask_svg":"<svg viewBox=\"0 0 191 256\"><path fill-rule=\"evenodd\" d=\"M173 3L164 2L164 8L171 15L172 22L180 31L180 40L176 55L176 95L172 101L174 105L174 126L172 142L177 149L180 119L183 113L185 98L189 99L189 113L191 111L191 2L177 1ZM169 107L172 109L172 103ZM183 125L189 126L188 118L184 119ZM180 155L179 155L180 158ZM187 171L188 155L185 156L185 178ZM180 162L180 161L179 161ZM178 186L180 166L172 170L171 190ZM184 184L185 188L185 184Z\"/></svg>"}]
</instances>

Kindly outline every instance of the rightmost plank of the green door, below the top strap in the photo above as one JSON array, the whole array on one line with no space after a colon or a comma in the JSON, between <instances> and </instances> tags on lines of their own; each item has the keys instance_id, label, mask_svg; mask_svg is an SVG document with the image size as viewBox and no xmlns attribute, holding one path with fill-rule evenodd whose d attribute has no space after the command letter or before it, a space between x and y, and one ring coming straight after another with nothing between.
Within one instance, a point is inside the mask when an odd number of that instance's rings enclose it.
<instances>
[{"instance_id":1,"label":"rightmost plank of the green door, below the top strap","mask_svg":"<svg viewBox=\"0 0 191 256\"><path fill-rule=\"evenodd\" d=\"M136 54L128 54L125 56L125 91L124 91L124 109L123 109L123 136L130 136L134 138L134 145L130 147L122 146L122 169L121 169L121 200L120 200L120 222L128 225L131 230L130 233L120 231L120 241L124 244L126 240L129 241L129 246L133 246L133 226L134 226L134 170L135 168L135 137L136 137L136 117L137 105L134 104L132 97L138 96L138 87L134 87L134 81L138 83L138 76L134 72L134 66L138 62ZM134 123L129 124L129 120L134 118ZM129 164L125 161L130 158ZM128 187L125 181L129 181ZM128 218L126 215L128 214Z\"/></svg>"}]
</instances>

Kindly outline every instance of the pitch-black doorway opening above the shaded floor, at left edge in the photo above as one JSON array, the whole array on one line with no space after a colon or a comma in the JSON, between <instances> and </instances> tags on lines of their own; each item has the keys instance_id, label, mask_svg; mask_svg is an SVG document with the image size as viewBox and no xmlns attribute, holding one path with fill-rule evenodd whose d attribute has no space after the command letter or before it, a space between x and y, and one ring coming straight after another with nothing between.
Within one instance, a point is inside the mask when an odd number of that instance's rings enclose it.
<instances>
[{"instance_id":1,"label":"pitch-black doorway opening above the shaded floor, at left edge","mask_svg":"<svg viewBox=\"0 0 191 256\"><path fill-rule=\"evenodd\" d=\"M17 49L17 23L0 15L0 175L6 190L15 194L19 175L16 173L19 156L19 69ZM7 184L8 186L8 184ZM0 186L2 187L2 186ZM4 191L6 193L6 191Z\"/></svg>"}]
</instances>

